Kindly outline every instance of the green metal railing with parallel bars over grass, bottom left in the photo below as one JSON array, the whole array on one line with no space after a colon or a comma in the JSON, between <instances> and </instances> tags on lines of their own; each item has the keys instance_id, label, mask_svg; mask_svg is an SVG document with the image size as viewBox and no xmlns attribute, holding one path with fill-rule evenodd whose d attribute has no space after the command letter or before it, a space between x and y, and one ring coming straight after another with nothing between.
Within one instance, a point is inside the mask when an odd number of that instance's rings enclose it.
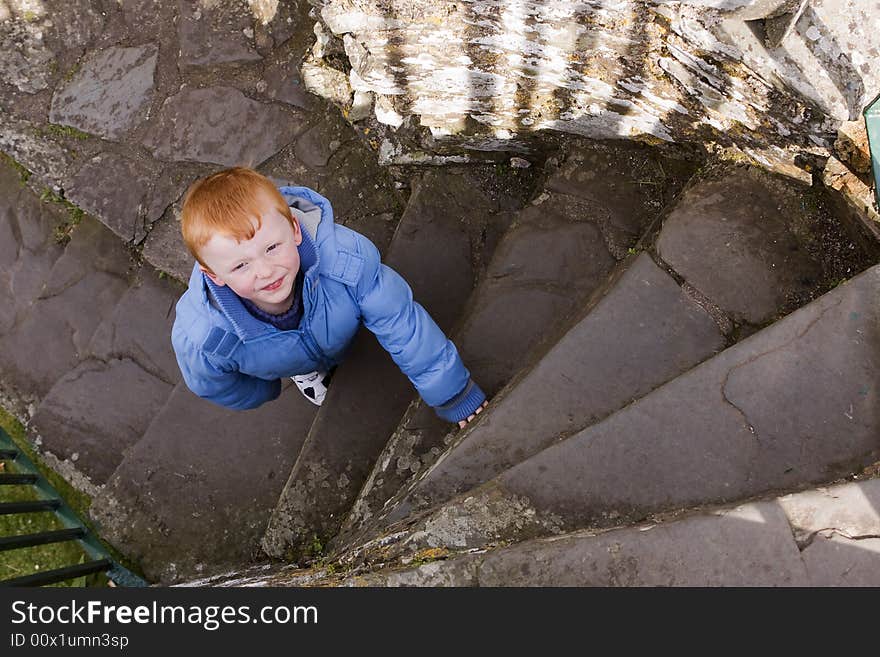
<instances>
[{"instance_id":1,"label":"green metal railing with parallel bars over grass, bottom left","mask_svg":"<svg viewBox=\"0 0 880 657\"><path fill-rule=\"evenodd\" d=\"M110 555L98 537L88 529L76 512L40 474L33 461L18 449L2 428L0 428L0 463L4 464L0 471L0 486L32 486L38 497L23 502L0 502L0 515L53 513L64 526L64 529L33 534L0 536L0 553L50 543L76 541L89 559L85 563L0 580L0 586L44 586L94 573L106 574L118 586L148 586L147 582L121 566ZM8 472L6 464L14 466L16 472Z\"/></svg>"}]
</instances>

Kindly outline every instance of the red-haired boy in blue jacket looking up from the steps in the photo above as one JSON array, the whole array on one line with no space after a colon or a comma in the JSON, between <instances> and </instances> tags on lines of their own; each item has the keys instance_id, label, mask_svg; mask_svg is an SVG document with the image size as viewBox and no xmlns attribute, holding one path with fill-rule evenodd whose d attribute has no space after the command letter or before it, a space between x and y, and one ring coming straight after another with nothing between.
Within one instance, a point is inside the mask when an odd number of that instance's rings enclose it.
<instances>
[{"instance_id":1,"label":"red-haired boy in blue jacket looking up from the steps","mask_svg":"<svg viewBox=\"0 0 880 657\"><path fill-rule=\"evenodd\" d=\"M234 167L187 191L181 230L196 259L171 341L186 384L232 409L278 397L291 377L318 406L363 323L445 420L486 406L458 351L366 237L329 201Z\"/></svg>"}]
</instances>

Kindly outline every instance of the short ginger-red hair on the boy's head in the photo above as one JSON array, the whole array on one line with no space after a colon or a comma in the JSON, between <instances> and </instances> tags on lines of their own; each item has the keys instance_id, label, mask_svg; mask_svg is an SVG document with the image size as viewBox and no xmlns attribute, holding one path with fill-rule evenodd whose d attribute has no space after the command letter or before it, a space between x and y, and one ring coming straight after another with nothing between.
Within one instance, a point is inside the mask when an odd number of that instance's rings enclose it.
<instances>
[{"instance_id":1,"label":"short ginger-red hair on the boy's head","mask_svg":"<svg viewBox=\"0 0 880 657\"><path fill-rule=\"evenodd\" d=\"M199 249L218 234L239 242L251 239L261 226L260 214L267 203L293 226L293 213L281 192L253 169L232 167L197 180L184 196L180 216L186 248L202 267L209 269Z\"/></svg>"}]
</instances>

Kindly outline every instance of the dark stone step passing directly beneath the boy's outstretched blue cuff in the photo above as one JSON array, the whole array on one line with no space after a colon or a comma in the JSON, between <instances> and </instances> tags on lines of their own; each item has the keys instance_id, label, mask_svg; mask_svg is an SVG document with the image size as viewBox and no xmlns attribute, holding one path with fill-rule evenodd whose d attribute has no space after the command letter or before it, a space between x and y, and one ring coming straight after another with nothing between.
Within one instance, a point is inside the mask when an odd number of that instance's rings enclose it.
<instances>
[{"instance_id":1,"label":"dark stone step passing directly beneath the boy's outstretched blue cuff","mask_svg":"<svg viewBox=\"0 0 880 657\"><path fill-rule=\"evenodd\" d=\"M631 145L576 148L550 175L546 188L552 193L519 213L455 338L487 395L495 396L527 366L528 354L558 333L607 279L615 257L627 253L679 191L688 165L660 160ZM667 171L677 176L667 178ZM454 440L449 427L416 400L377 460L337 543L351 540Z\"/></svg>"}]
</instances>

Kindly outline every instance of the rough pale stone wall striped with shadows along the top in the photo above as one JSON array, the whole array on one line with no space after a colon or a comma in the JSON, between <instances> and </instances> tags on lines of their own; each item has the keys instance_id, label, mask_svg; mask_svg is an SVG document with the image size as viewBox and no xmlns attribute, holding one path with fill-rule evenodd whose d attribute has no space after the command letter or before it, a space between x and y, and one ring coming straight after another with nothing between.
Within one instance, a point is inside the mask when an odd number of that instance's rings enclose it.
<instances>
[{"instance_id":1,"label":"rough pale stone wall striped with shadows along the top","mask_svg":"<svg viewBox=\"0 0 880 657\"><path fill-rule=\"evenodd\" d=\"M413 117L434 152L516 150L551 130L735 143L794 163L824 155L880 92L876 0L312 4L306 84L353 118L397 129ZM393 136L380 155L406 157Z\"/></svg>"}]
</instances>

